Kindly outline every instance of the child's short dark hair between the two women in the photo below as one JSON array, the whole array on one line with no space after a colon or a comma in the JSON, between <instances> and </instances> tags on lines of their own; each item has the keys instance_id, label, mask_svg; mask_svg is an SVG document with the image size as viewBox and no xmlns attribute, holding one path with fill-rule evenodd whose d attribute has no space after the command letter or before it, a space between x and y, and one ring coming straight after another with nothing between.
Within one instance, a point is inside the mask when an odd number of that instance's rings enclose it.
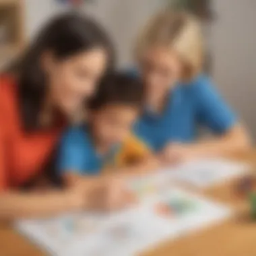
<instances>
[{"instance_id":1,"label":"child's short dark hair between the two women","mask_svg":"<svg viewBox=\"0 0 256 256\"><path fill-rule=\"evenodd\" d=\"M102 79L88 107L98 110L106 104L127 104L140 109L143 99L144 86L140 79L124 73L110 73Z\"/></svg>"}]
</instances>

